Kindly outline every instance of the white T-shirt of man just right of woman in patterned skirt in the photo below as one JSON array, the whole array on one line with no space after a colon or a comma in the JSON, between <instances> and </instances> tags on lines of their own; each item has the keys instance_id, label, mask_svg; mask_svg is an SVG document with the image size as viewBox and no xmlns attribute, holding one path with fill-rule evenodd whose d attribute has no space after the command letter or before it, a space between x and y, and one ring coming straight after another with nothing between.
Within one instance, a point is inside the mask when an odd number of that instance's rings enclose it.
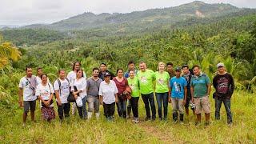
<instances>
[{"instance_id":1,"label":"white T-shirt of man just right of woman in patterned skirt","mask_svg":"<svg viewBox=\"0 0 256 144\"><path fill-rule=\"evenodd\" d=\"M54 90L58 90L62 103L67 103L67 97L70 95L70 83L66 80L66 78L64 80L60 78L58 79L61 82L61 87L59 88L58 80L56 80L54 82Z\"/></svg>"}]
</instances>

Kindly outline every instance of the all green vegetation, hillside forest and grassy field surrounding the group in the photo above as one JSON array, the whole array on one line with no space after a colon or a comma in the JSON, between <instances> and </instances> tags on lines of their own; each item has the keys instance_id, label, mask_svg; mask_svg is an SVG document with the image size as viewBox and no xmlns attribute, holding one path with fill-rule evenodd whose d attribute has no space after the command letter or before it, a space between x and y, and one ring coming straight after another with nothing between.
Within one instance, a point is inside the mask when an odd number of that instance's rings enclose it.
<instances>
[{"instance_id":1,"label":"all green vegetation, hillside forest and grassy field surrounding the group","mask_svg":"<svg viewBox=\"0 0 256 144\"><path fill-rule=\"evenodd\" d=\"M204 18L186 14L200 10ZM222 11L221 11L222 10ZM223 12L225 11L225 12ZM186 18L170 22L171 14L185 14ZM98 23L79 27L75 23L90 18ZM91 20L94 18L93 20ZM176 18L176 17L175 17ZM112 21L112 20L113 21ZM88 19L87 19L88 20ZM141 21L143 20L143 21ZM117 21L116 23L113 23ZM146 22L145 22L146 21ZM152 22L150 22L152 21ZM112 23L111 23L112 22ZM70 24L74 23L74 25ZM81 23L81 22L80 22ZM256 123L256 13L255 10L238 9L234 6L208 5L192 2L174 8L146 10L130 14L82 14L54 23L60 31L47 26L34 25L24 29L2 30L0 38L1 61L6 63L0 70L0 140L13 142L130 142L130 143L255 143ZM67 28L66 26L70 26ZM74 30L76 27L82 30ZM72 30L70 30L72 29ZM17 57L4 52L6 46L19 46ZM12 45L10 42L13 42ZM26 45L26 46L23 46ZM21 58L19 57L21 55ZM18 58L20 58L18 60ZM18 60L18 61L15 61ZM213 78L216 64L224 62L226 70L234 76L236 90L231 109L234 126L226 126L226 113L222 108L222 120L208 126L194 127L193 116L186 118L185 125L172 122L141 122L134 125L115 115L115 122L101 120L81 121L78 116L64 123L42 122L39 108L37 123L22 128L22 109L18 108L18 82L27 65L41 66L50 81L57 78L57 70L71 70L71 62L82 62L90 76L94 66L106 62L113 72L118 67L126 69L127 62L145 61L156 70L158 62L173 62L174 66L199 64L202 71ZM1 64L1 63L0 63ZM35 69L34 69L35 74ZM144 118L142 100L139 102L139 117ZM56 106L55 106L56 108ZM101 108L102 110L102 108ZM211 119L214 119L214 101L211 98ZM169 118L171 106L169 106Z\"/></svg>"}]
</instances>

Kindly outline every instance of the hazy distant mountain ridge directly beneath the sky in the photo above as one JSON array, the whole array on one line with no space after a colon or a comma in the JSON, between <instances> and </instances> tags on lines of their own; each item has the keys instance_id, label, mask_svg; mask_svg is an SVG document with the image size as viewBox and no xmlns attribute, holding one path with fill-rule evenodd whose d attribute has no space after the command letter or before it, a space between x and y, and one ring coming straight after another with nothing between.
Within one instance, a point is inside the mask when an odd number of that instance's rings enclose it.
<instances>
[{"instance_id":1,"label":"hazy distant mountain ridge directly beneath the sky","mask_svg":"<svg viewBox=\"0 0 256 144\"><path fill-rule=\"evenodd\" d=\"M145 29L152 26L170 25L182 22L189 18L214 18L222 15L238 12L239 9L230 4L206 4L204 2L191 2L181 6L151 9L145 11L134 11L127 14L93 14L84 13L55 22L46 27L54 30L84 30L98 28L102 26L117 26L120 30L125 30L130 26ZM27 28L34 26L26 26Z\"/></svg>"}]
</instances>

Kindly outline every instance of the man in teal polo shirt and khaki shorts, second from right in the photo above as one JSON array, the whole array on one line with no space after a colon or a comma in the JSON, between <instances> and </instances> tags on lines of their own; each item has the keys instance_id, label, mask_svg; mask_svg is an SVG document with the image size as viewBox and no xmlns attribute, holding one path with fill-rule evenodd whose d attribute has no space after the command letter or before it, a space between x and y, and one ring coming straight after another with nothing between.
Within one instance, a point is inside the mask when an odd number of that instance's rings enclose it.
<instances>
[{"instance_id":1,"label":"man in teal polo shirt and khaki shorts, second from right","mask_svg":"<svg viewBox=\"0 0 256 144\"><path fill-rule=\"evenodd\" d=\"M191 99L195 105L195 114L197 114L196 125L201 122L202 110L206 115L206 125L210 124L210 79L206 74L202 74L200 66L193 66L194 75L190 82Z\"/></svg>"}]
</instances>

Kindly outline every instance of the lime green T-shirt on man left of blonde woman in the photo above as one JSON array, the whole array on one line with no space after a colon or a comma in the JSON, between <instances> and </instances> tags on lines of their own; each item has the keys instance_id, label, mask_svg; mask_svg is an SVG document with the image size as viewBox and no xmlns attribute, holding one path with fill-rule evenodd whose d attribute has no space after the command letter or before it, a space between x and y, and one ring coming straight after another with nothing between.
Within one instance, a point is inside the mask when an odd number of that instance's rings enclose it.
<instances>
[{"instance_id":1,"label":"lime green T-shirt on man left of blonde woman","mask_svg":"<svg viewBox=\"0 0 256 144\"><path fill-rule=\"evenodd\" d=\"M138 77L141 94L150 94L150 93L154 92L153 82L154 82L155 77L154 77L153 70L147 69L144 72L139 70L137 77Z\"/></svg>"}]
</instances>

